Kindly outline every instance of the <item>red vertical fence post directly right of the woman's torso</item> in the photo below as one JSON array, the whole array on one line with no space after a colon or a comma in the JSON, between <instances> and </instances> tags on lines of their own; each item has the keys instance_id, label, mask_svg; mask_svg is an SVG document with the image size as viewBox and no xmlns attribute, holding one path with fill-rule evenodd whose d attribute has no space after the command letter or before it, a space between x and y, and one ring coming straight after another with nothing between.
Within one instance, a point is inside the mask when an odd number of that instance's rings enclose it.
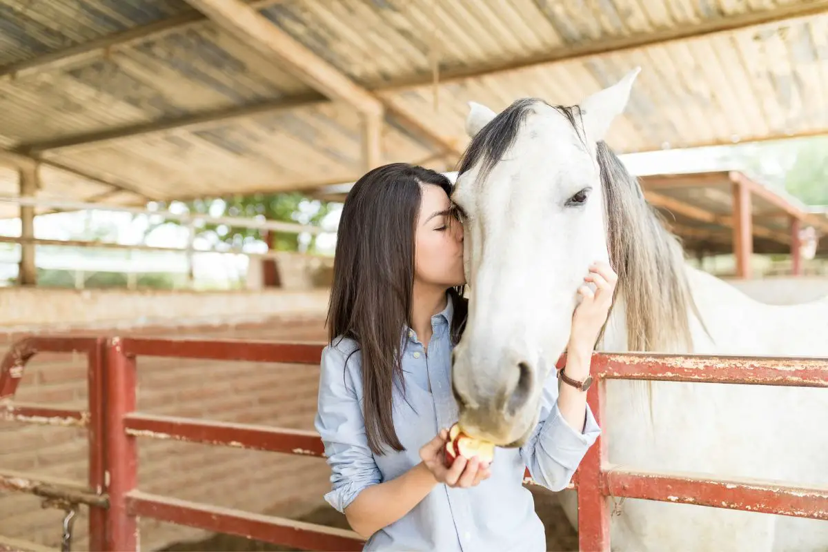
<instances>
[{"instance_id":1,"label":"red vertical fence post directly right of the woman's torso","mask_svg":"<svg viewBox=\"0 0 828 552\"><path fill-rule=\"evenodd\" d=\"M591 371L595 373L595 362ZM586 393L586 401L601 425L606 404L604 380L598 379ZM586 451L575 473L578 488L578 548L590 552L609 552L609 509L605 493L600 492L601 467L607 463L606 439L599 435Z\"/></svg>"}]
</instances>

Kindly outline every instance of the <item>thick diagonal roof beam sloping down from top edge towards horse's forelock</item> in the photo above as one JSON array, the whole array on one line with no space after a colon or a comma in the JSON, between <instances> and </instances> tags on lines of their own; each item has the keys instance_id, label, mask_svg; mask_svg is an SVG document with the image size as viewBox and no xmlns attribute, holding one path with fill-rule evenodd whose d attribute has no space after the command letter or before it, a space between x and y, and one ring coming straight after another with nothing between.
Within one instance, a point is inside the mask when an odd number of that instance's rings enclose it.
<instances>
[{"instance_id":1,"label":"thick diagonal roof beam sloping down from top edge towards horse's forelock","mask_svg":"<svg viewBox=\"0 0 828 552\"><path fill-rule=\"evenodd\" d=\"M217 26L236 36L254 50L275 59L289 73L328 98L348 103L365 117L381 118L393 114L407 127L428 139L443 151L460 154L460 147L417 122L408 113L363 88L334 65L320 58L301 42L282 31L242 0L186 0Z\"/></svg>"}]
</instances>

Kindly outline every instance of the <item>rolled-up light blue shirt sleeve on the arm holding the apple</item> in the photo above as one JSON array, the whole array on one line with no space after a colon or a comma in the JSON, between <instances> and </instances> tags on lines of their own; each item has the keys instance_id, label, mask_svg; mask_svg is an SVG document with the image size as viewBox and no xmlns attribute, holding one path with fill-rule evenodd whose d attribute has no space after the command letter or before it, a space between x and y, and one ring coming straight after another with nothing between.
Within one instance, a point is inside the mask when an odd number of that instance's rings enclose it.
<instances>
[{"instance_id":1,"label":"rolled-up light blue shirt sleeve on the arm holding the apple","mask_svg":"<svg viewBox=\"0 0 828 552\"><path fill-rule=\"evenodd\" d=\"M331 490L325 494L325 501L342 513L359 492L382 481L368 448L353 368L345 365L348 356L330 345L322 351L314 420L331 469ZM359 353L351 355L348 363L354 362L359 362Z\"/></svg>"}]
</instances>

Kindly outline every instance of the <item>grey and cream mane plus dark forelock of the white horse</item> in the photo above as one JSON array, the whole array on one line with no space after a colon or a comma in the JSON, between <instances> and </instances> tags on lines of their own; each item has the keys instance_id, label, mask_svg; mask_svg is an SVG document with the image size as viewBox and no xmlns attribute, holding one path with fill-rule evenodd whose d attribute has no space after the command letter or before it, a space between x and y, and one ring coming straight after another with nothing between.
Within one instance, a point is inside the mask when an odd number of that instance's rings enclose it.
<instances>
[{"instance_id":1,"label":"grey and cream mane plus dark forelock of the white horse","mask_svg":"<svg viewBox=\"0 0 828 552\"><path fill-rule=\"evenodd\" d=\"M513 146L522 122L538 98L518 99L480 129L460 158L458 174L480 163L480 177ZM582 142L578 106L550 105L563 115ZM607 146L598 142L596 157L604 188L609 259L619 275L616 296L626 307L627 347L631 351L668 352L680 343L692 350L689 313L699 311L685 271L684 252L676 236L644 198L638 178ZM608 317L609 319L609 317ZM601 332L603 335L603 331Z\"/></svg>"}]
</instances>

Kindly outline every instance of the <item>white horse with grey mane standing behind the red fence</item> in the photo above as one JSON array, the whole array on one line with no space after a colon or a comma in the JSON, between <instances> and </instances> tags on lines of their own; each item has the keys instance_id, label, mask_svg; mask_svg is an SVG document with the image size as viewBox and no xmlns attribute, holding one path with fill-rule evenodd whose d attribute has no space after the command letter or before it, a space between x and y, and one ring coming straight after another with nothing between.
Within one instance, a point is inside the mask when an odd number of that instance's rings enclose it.
<instances>
[{"instance_id":1,"label":"white horse with grey mane standing behind the red fence","mask_svg":"<svg viewBox=\"0 0 828 552\"><path fill-rule=\"evenodd\" d=\"M470 104L473 139L453 196L465 215L469 321L453 377L467 402L461 423L480 437L526 439L594 260L611 260L619 273L601 351L828 357L828 301L763 305L687 265L603 142L637 74L580 108L527 98L496 114ZM648 391L607 382L610 463L828 483L825 390L652 382ZM574 492L559 496L575 525ZM825 521L633 499L620 510L613 550L828 550Z\"/></svg>"}]
</instances>

